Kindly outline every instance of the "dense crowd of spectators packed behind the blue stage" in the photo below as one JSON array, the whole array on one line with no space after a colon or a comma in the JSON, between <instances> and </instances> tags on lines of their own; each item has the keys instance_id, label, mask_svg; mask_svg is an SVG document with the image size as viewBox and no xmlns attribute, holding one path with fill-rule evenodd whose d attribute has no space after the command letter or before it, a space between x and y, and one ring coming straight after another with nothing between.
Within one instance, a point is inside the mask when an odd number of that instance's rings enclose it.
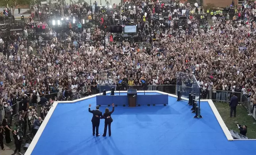
<instances>
[{"instance_id":1,"label":"dense crowd of spectators packed behind the blue stage","mask_svg":"<svg viewBox=\"0 0 256 155\"><path fill-rule=\"evenodd\" d=\"M85 4L61 4L57 13L62 16L62 10L70 16L74 13L81 16L79 13L85 11L85 17L92 15L98 22L93 34L86 28L82 28L85 29L83 32L70 28L66 35L69 40L67 47L63 46L63 38L58 38L58 34L51 29L52 42L45 47L40 47L40 44L36 48L27 47L25 42L18 41L14 45L3 44L3 54L0 55L0 110L8 111L3 121L6 132L13 129L10 124L12 118L7 117L8 113L12 115L12 111L7 109L18 100L22 100L18 111L21 112L19 122L25 136L25 127L32 127L33 119L38 120L39 116L40 120L43 119L54 100L69 100L70 96L77 99L81 98L81 94L98 93L100 85L118 86L120 80L126 81L124 87L134 87L142 86L143 79L149 85L148 90L160 91L163 87L158 85L177 83L189 87L194 82L191 76L176 77L177 72L193 74L205 92L203 98L209 98L211 92L213 99L228 101L230 93L227 91L242 92L256 106L256 1L250 0L239 6L240 13L246 15L244 20L219 17L213 23L191 13L193 7L189 4L175 6L165 21L167 26L161 26L159 19L155 18L155 14L159 14L166 5L158 0L150 3L128 0L123 9L113 7L111 18L118 17L121 19L119 24L127 24L127 18L122 17L131 18L132 15L136 19L138 32L146 33L145 36L150 38L141 37L140 41L150 42L151 48L129 41L120 44L111 42L109 33L101 28L106 22L101 17L107 15L109 10L104 11L95 3L89 11L87 5L84 8ZM129 9L130 5L136 6L135 9ZM39 9L35 8L37 11ZM126 15L127 11L129 15ZM182 29L176 20L181 16L188 17ZM41 29L43 25L47 26L44 22L38 21L39 26L36 27ZM159 32L154 31L159 24ZM244 47L244 51L239 51L239 47ZM52 93L56 94L55 97L45 98ZM40 112L33 109L38 103L43 105Z\"/></svg>"}]
</instances>

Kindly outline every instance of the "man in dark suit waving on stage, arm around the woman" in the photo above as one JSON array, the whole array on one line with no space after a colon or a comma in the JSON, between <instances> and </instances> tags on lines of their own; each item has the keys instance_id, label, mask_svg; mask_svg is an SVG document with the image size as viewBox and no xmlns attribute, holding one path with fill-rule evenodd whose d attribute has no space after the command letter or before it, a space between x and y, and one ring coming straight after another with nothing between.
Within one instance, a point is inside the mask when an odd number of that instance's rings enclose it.
<instances>
[{"instance_id":1,"label":"man in dark suit waving on stage, arm around the woman","mask_svg":"<svg viewBox=\"0 0 256 155\"><path fill-rule=\"evenodd\" d=\"M95 128L96 128L96 137L100 136L99 134L100 119L103 119L105 117L102 115L102 112L99 111L99 106L96 106L96 110L91 110L91 104L89 104L89 112L93 114L93 117L91 119L91 122L93 124L93 136L95 135ZM110 118L110 116L107 118Z\"/></svg>"}]
</instances>

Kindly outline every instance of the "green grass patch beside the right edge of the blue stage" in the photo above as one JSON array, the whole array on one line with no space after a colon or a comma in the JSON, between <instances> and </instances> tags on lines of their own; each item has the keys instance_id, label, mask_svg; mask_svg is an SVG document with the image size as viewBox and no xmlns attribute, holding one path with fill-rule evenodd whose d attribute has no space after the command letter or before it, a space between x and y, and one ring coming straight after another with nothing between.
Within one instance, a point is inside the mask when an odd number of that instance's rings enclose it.
<instances>
[{"instance_id":1,"label":"green grass patch beside the right edge of the blue stage","mask_svg":"<svg viewBox=\"0 0 256 155\"><path fill-rule=\"evenodd\" d=\"M228 129L239 132L239 129L235 124L235 121L237 121L242 125L247 125L246 136L248 138L256 139L256 121L252 116L248 115L248 112L244 106L237 106L236 118L230 118L230 108L228 103L214 102L214 104Z\"/></svg>"}]
</instances>

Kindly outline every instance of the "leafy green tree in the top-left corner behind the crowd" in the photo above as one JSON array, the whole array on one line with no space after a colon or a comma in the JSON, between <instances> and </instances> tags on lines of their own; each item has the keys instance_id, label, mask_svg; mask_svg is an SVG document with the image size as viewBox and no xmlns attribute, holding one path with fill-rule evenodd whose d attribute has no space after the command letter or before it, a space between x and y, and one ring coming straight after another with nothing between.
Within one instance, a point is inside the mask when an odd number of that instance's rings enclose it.
<instances>
[{"instance_id":1,"label":"leafy green tree in the top-left corner behind the crowd","mask_svg":"<svg viewBox=\"0 0 256 155\"><path fill-rule=\"evenodd\" d=\"M32 0L0 0L0 5L7 8L8 7L12 9L12 15L14 15L14 10L17 6L25 6L30 5Z\"/></svg>"}]
</instances>

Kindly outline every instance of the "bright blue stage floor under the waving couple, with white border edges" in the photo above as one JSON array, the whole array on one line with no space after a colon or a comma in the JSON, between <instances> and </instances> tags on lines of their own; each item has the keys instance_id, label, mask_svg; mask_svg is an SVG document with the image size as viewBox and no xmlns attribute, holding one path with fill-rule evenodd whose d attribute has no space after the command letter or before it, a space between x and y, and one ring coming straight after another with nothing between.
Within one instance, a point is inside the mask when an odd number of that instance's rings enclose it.
<instances>
[{"instance_id":1,"label":"bright blue stage floor under the waving couple, with white border edges","mask_svg":"<svg viewBox=\"0 0 256 155\"><path fill-rule=\"evenodd\" d=\"M25 155L255 153L255 140L233 140L211 100L201 102L202 119L194 119L191 106L186 101L177 102L173 95L169 95L167 106L117 106L111 115L114 120L111 137L92 135L89 104L95 109L95 95L78 102L54 102ZM104 112L105 108L100 110ZM100 134L103 129L104 121L101 120Z\"/></svg>"}]
</instances>

